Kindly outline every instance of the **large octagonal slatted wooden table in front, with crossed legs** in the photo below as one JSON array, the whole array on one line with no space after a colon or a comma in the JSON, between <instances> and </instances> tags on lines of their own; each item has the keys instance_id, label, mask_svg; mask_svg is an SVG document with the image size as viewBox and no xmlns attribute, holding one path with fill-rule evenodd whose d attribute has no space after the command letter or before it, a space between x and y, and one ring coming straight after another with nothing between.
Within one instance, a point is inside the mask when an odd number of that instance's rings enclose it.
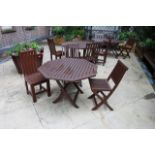
<instances>
[{"instance_id":1,"label":"large octagonal slatted wooden table in front, with crossed legs","mask_svg":"<svg viewBox=\"0 0 155 155\"><path fill-rule=\"evenodd\" d=\"M64 58L48 61L38 68L41 74L47 79L56 80L61 89L61 93L53 103L58 102L63 96L66 96L72 105L76 108L76 99L79 92L83 91L77 85L77 81L93 77L97 73L97 66L84 59ZM67 92L67 87L73 84L77 92L72 99Z\"/></svg>"}]
</instances>

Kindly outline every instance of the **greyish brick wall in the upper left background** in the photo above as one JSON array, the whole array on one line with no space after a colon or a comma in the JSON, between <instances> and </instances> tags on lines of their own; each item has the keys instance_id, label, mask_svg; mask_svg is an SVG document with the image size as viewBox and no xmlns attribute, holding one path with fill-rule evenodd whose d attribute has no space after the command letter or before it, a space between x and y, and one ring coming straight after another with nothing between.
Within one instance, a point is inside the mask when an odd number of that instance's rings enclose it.
<instances>
[{"instance_id":1,"label":"greyish brick wall in the upper left background","mask_svg":"<svg viewBox=\"0 0 155 155\"><path fill-rule=\"evenodd\" d=\"M0 49L9 48L16 43L46 38L49 36L48 26L35 26L34 30L25 30L24 26L15 26L16 32L1 33L0 27Z\"/></svg>"}]
</instances>

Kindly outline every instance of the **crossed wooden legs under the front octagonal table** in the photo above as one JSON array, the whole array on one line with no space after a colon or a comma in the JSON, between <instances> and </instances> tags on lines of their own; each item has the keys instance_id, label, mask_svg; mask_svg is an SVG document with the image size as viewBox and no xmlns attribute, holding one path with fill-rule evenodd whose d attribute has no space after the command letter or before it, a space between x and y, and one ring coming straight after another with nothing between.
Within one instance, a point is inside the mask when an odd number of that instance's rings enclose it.
<instances>
[{"instance_id":1,"label":"crossed wooden legs under the front octagonal table","mask_svg":"<svg viewBox=\"0 0 155 155\"><path fill-rule=\"evenodd\" d=\"M60 95L53 101L53 103L57 103L63 96L67 97L68 100L71 102L71 104L75 107L75 108L79 108L78 105L75 103L76 102L76 99L78 97L78 94L79 92L82 94L83 91L79 88L79 86L77 85L76 82L69 82L69 83L62 83L60 82L59 80L56 80L58 86L60 87L61 89L61 93ZM71 96L67 93L67 87L70 85L70 84L73 84L75 86L75 88L77 89L77 92L74 96L74 98L72 99Z\"/></svg>"}]
</instances>

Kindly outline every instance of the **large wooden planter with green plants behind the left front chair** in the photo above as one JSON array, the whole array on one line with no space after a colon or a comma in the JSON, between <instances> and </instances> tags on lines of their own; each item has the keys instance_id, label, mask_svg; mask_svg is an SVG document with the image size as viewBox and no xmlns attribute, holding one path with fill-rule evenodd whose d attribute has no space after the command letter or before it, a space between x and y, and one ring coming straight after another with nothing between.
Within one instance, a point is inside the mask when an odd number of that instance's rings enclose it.
<instances>
[{"instance_id":1,"label":"large wooden planter with green plants behind the left front chair","mask_svg":"<svg viewBox=\"0 0 155 155\"><path fill-rule=\"evenodd\" d=\"M40 47L40 45L37 42L16 44L8 52L8 54L11 56L11 58L12 58L14 64L15 64L17 72L19 74L22 73L22 69L21 69L21 66L20 66L19 53L23 52L23 51L28 51L28 50L31 50L31 49L33 49L34 51L37 52L38 65L41 65L44 50L43 50L43 48Z\"/></svg>"}]
</instances>

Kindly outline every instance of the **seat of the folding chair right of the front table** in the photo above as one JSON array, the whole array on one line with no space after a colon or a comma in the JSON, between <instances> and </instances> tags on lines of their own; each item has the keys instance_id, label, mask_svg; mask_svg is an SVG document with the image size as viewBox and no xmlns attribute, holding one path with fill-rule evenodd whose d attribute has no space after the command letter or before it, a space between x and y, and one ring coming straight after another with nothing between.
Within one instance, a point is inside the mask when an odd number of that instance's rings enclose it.
<instances>
[{"instance_id":1,"label":"seat of the folding chair right of the front table","mask_svg":"<svg viewBox=\"0 0 155 155\"><path fill-rule=\"evenodd\" d=\"M89 83L93 92L112 90L106 79L89 79Z\"/></svg>"}]
</instances>

